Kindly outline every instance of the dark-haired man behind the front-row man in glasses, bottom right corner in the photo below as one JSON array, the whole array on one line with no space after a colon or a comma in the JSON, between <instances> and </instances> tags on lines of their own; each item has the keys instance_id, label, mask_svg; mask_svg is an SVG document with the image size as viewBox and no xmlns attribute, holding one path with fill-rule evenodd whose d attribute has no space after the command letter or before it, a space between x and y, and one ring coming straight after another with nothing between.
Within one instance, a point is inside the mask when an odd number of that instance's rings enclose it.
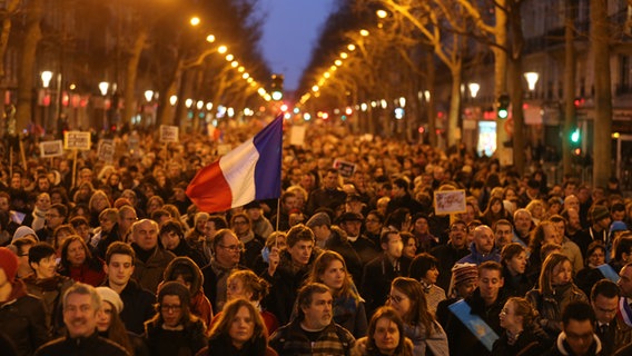
<instances>
[{"instance_id":1,"label":"dark-haired man behind the front-row man in glasses, bottom right corner","mask_svg":"<svg viewBox=\"0 0 632 356\"><path fill-rule=\"evenodd\" d=\"M594 329L605 356L632 342L632 328L616 318L620 295L619 286L609 279L598 281L591 290L591 306L596 318Z\"/></svg>"}]
</instances>

